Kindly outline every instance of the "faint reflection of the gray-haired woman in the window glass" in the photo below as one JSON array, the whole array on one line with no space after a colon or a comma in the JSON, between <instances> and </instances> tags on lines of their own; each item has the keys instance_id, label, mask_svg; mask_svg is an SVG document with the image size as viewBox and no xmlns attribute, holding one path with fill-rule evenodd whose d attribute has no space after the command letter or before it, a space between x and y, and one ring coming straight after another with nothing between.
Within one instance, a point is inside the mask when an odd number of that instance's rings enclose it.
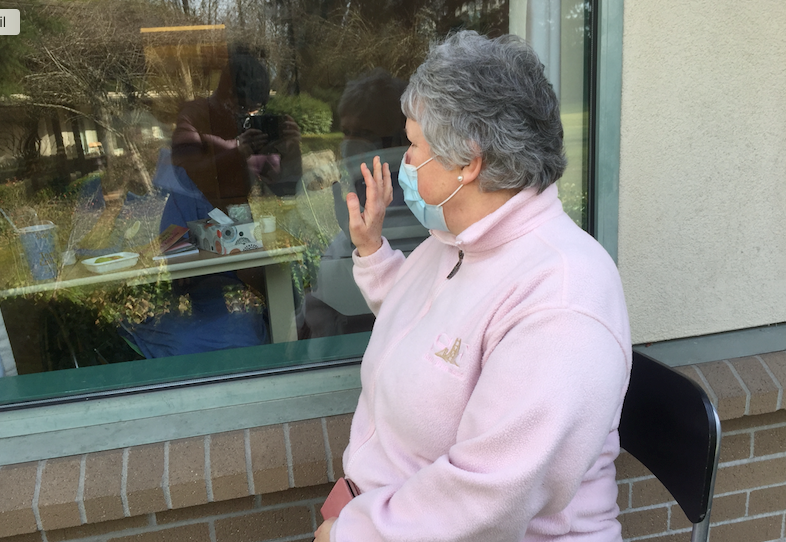
<instances>
[{"instance_id":1,"label":"faint reflection of the gray-haired woman in the window glass","mask_svg":"<svg viewBox=\"0 0 786 542\"><path fill-rule=\"evenodd\" d=\"M407 84L382 68L349 81L338 104L344 139L341 141L343 176L333 185L334 210L341 231L322 254L312 291L304 298L300 338L325 337L369 331L371 310L352 278L352 250L346 194L354 192L366 201L366 185L360 165L371 165L374 156L398 164L409 141L404 130L401 95ZM398 169L391 169L393 201L385 217L386 236L404 252L411 251L428 235L404 204ZM308 187L306 187L308 189ZM394 232L395 230L395 232ZM404 236L400 232L407 232Z\"/></svg>"}]
</instances>

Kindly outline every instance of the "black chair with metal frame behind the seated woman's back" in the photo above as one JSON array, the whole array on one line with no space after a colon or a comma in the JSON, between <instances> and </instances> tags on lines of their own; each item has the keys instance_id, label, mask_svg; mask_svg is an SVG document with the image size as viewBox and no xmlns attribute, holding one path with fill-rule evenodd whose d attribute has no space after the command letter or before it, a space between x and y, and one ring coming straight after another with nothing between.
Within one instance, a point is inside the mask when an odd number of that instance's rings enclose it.
<instances>
[{"instance_id":1,"label":"black chair with metal frame behind the seated woman's back","mask_svg":"<svg viewBox=\"0 0 786 542\"><path fill-rule=\"evenodd\" d=\"M708 540L721 426L704 390L634 352L619 433L622 447L661 481L693 523L691 542Z\"/></svg>"}]
</instances>

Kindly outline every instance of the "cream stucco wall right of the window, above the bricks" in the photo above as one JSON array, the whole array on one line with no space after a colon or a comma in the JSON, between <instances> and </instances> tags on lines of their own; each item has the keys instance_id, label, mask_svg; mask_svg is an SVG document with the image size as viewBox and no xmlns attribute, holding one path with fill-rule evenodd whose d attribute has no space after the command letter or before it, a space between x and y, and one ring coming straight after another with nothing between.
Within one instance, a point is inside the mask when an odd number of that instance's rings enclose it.
<instances>
[{"instance_id":1,"label":"cream stucco wall right of the window, above the bricks","mask_svg":"<svg viewBox=\"0 0 786 542\"><path fill-rule=\"evenodd\" d=\"M621 132L634 342L786 321L786 2L626 0Z\"/></svg>"}]
</instances>

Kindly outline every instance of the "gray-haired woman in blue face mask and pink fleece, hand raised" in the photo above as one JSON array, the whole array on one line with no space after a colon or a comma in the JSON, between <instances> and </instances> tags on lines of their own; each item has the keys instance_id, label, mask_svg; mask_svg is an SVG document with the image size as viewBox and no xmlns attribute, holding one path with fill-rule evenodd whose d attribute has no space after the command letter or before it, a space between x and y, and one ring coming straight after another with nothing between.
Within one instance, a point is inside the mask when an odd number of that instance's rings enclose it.
<instances>
[{"instance_id":1,"label":"gray-haired woman in blue face mask and pink fleece, hand raised","mask_svg":"<svg viewBox=\"0 0 786 542\"><path fill-rule=\"evenodd\" d=\"M612 260L563 212L557 98L514 36L461 32L402 97L399 179L431 230L380 235L387 164L349 196L377 315L344 471L360 495L317 541L621 541L614 459L631 363Z\"/></svg>"}]
</instances>

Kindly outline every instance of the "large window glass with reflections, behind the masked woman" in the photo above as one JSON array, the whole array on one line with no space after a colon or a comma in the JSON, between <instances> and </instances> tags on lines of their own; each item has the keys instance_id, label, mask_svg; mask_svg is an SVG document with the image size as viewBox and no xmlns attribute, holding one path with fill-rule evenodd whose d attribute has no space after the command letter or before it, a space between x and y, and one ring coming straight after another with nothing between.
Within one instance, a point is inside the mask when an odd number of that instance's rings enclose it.
<instances>
[{"instance_id":1,"label":"large window glass with reflections, behind the masked woman","mask_svg":"<svg viewBox=\"0 0 786 542\"><path fill-rule=\"evenodd\" d=\"M380 155L384 235L428 235L399 98L451 30L535 45L585 224L589 5L536 4L0 2L0 404L362 355L346 196Z\"/></svg>"}]
</instances>

